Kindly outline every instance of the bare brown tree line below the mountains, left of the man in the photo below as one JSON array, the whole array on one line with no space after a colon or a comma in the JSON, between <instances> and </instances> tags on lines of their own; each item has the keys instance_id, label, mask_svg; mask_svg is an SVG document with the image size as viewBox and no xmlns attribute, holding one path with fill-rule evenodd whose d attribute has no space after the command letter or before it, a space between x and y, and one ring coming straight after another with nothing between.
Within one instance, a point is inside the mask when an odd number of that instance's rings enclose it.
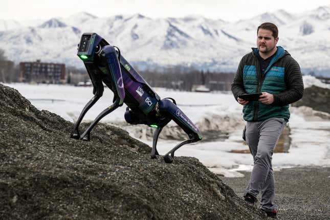
<instances>
[{"instance_id":1,"label":"bare brown tree line below the mountains, left of the man","mask_svg":"<svg viewBox=\"0 0 330 220\"><path fill-rule=\"evenodd\" d=\"M165 87L173 90L192 91L195 85L205 85L211 91L230 90L233 73L200 71L183 66L174 66L163 70L143 70L139 74L153 87ZM85 69L65 67L68 84L89 84L90 78ZM0 82L19 82L19 65L7 60L5 51L0 49Z\"/></svg>"}]
</instances>

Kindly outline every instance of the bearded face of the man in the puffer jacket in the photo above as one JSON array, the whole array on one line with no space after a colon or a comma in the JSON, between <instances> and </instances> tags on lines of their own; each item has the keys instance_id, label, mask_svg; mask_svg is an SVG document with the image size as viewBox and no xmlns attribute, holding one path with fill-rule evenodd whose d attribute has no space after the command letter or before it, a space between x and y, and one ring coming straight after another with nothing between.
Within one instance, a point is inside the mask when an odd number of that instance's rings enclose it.
<instances>
[{"instance_id":1,"label":"bearded face of the man in the puffer jacket","mask_svg":"<svg viewBox=\"0 0 330 220\"><path fill-rule=\"evenodd\" d=\"M267 54L275 49L278 37L273 37L273 32L259 28L257 37L257 47L260 53Z\"/></svg>"}]
</instances>

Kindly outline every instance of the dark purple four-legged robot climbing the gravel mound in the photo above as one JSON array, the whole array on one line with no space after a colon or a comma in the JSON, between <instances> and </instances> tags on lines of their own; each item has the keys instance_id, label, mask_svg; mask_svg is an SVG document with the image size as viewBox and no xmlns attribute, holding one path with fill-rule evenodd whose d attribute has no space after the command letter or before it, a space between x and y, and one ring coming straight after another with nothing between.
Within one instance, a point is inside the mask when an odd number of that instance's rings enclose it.
<instances>
[{"instance_id":1,"label":"dark purple four-legged robot climbing the gravel mound","mask_svg":"<svg viewBox=\"0 0 330 220\"><path fill-rule=\"evenodd\" d=\"M202 140L199 129L181 111L172 98L160 99L149 84L134 70L120 54L120 50L109 45L96 33L83 33L78 45L77 55L83 61L93 84L94 97L82 109L70 134L71 138L90 141L91 130L106 115L113 112L123 103L127 105L125 120L129 124L146 124L156 127L153 133L151 158L159 158L157 141L163 127L171 120L177 123L188 135L164 156L166 163L172 163L174 151L184 144ZM103 95L103 83L114 93L113 104L105 108L80 135L79 125L86 112ZM170 101L171 100L171 101Z\"/></svg>"}]
</instances>

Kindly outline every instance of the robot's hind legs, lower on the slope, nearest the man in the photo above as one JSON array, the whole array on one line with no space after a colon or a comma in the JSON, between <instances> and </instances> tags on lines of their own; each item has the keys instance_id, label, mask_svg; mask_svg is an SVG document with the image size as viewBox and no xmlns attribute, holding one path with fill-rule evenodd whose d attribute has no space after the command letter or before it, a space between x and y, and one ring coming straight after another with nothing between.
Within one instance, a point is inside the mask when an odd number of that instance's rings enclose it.
<instances>
[{"instance_id":1,"label":"robot's hind legs, lower on the slope, nearest the man","mask_svg":"<svg viewBox=\"0 0 330 220\"><path fill-rule=\"evenodd\" d=\"M190 119L181 111L181 109L175 105L173 102L169 101L168 99L162 99L159 102L159 111L162 115L166 115L170 119L172 119L175 123L177 123L184 131L187 133L189 139L182 141L177 146L173 147L169 152L166 153L164 156L164 161L166 163L172 163L174 158L175 150L179 149L181 146L185 144L194 143L196 141L202 140L202 134L200 133L199 129L190 121ZM157 130L156 130L157 131ZM156 149L157 139L155 140L155 135L157 134L157 138L161 129L158 133L154 134L153 139L153 147ZM152 156L152 155L151 155Z\"/></svg>"}]
</instances>

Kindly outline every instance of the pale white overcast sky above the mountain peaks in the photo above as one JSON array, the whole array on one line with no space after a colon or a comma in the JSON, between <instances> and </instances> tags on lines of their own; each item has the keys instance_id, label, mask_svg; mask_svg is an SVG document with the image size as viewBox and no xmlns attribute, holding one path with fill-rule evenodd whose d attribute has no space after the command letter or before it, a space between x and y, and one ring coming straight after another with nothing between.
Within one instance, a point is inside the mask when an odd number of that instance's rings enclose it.
<instances>
[{"instance_id":1,"label":"pale white overcast sky above the mountain peaks","mask_svg":"<svg viewBox=\"0 0 330 220\"><path fill-rule=\"evenodd\" d=\"M65 18L85 11L98 17L140 13L151 18L202 15L236 21L277 9L301 13L319 6L330 7L330 0L1 0L0 19Z\"/></svg>"}]
</instances>

